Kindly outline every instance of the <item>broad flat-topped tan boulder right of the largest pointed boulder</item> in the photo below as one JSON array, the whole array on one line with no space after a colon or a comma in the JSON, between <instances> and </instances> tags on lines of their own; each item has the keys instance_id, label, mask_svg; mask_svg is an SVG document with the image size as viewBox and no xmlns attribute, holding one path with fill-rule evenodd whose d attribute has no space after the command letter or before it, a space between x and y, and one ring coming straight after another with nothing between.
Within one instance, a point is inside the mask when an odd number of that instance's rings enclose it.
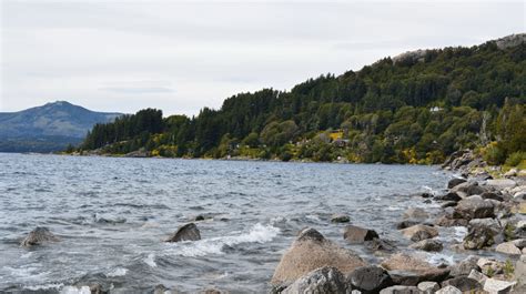
<instances>
[{"instance_id":1,"label":"broad flat-topped tan boulder right of the largest pointed boulder","mask_svg":"<svg viewBox=\"0 0 526 294\"><path fill-rule=\"evenodd\" d=\"M406 253L397 253L392 255L390 258L382 262L382 267L390 271L390 275L393 278L395 284L401 284L395 281L394 274L397 274L398 277L405 278L405 273L409 273L416 278L412 277L411 275L406 275L406 277L411 277L404 281L411 281L411 284L404 285L417 285L419 282L424 281L434 281L441 282L449 274L448 268L438 268L426 261L423 261L414 255L409 255ZM392 271L394 274L392 274Z\"/></svg>"}]
</instances>

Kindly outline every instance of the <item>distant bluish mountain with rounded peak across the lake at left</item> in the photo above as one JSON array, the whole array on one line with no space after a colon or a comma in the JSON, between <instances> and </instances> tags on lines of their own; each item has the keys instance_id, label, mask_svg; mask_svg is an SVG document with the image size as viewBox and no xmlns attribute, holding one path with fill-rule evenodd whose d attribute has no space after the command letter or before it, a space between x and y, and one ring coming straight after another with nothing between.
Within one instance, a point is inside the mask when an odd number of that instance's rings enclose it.
<instances>
[{"instance_id":1,"label":"distant bluish mountain with rounded peak across the lake at left","mask_svg":"<svg viewBox=\"0 0 526 294\"><path fill-rule=\"evenodd\" d=\"M95 112L65 101L0 112L0 152L52 152L82 141L97 123L121 113Z\"/></svg>"}]
</instances>

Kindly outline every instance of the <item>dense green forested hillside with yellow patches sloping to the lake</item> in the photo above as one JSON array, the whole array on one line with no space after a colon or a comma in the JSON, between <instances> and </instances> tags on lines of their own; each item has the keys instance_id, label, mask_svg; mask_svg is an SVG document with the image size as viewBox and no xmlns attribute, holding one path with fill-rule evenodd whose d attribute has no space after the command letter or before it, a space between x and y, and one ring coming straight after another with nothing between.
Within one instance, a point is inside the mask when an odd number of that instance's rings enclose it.
<instances>
[{"instance_id":1,"label":"dense green forested hillside with yellow patches sloping to the lake","mask_svg":"<svg viewBox=\"0 0 526 294\"><path fill-rule=\"evenodd\" d=\"M520 40L408 52L290 91L240 93L192 118L141 110L97 124L77 150L433 164L469 148L490 163L517 164L526 160Z\"/></svg>"}]
</instances>

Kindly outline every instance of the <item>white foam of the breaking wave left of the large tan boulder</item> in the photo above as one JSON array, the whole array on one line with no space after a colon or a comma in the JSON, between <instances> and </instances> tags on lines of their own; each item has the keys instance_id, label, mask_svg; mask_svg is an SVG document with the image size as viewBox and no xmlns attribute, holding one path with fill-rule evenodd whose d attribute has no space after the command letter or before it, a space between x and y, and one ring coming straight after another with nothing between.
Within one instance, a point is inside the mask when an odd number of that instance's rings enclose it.
<instances>
[{"instance_id":1,"label":"white foam of the breaking wave left of the large tan boulder","mask_svg":"<svg viewBox=\"0 0 526 294\"><path fill-rule=\"evenodd\" d=\"M256 223L245 234L170 244L171 249L169 252L186 257L223 254L222 250L224 246L233 246L241 243L265 243L272 241L279 233L280 229L275 226Z\"/></svg>"}]
</instances>

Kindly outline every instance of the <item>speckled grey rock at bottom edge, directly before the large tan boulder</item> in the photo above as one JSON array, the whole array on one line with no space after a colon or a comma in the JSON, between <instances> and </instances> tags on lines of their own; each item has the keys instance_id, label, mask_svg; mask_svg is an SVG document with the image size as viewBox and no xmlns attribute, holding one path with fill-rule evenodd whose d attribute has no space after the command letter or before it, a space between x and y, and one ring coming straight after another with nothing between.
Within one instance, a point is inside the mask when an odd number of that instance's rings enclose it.
<instances>
[{"instance_id":1,"label":"speckled grey rock at bottom edge, directly before the large tan boulder","mask_svg":"<svg viewBox=\"0 0 526 294\"><path fill-rule=\"evenodd\" d=\"M345 284L343 274L336 267L324 266L297 278L292 285L286 287L282 294L331 294L348 292L350 288L347 288Z\"/></svg>"}]
</instances>

